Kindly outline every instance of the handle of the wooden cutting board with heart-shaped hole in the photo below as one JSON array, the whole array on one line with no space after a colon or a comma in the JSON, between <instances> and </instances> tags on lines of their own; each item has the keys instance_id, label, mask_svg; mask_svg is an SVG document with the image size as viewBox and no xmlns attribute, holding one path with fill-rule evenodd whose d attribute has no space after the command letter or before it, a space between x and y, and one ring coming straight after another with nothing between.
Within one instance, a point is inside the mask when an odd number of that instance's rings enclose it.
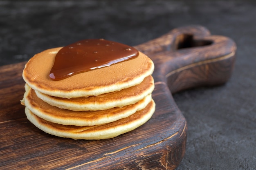
<instances>
[{"instance_id":1,"label":"handle of the wooden cutting board with heart-shaped hole","mask_svg":"<svg viewBox=\"0 0 256 170\"><path fill-rule=\"evenodd\" d=\"M233 40L197 25L173 29L135 48L153 60L155 82L166 83L171 93L227 82L236 52Z\"/></svg>"}]
</instances>

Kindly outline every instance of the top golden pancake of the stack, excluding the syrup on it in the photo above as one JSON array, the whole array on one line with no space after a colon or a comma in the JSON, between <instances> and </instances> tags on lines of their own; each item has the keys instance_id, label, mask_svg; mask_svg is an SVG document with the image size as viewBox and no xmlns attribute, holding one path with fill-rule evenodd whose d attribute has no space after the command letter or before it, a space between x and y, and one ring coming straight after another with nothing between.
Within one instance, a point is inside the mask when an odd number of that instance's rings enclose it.
<instances>
[{"instance_id":1,"label":"top golden pancake of the stack, excluding the syrup on it","mask_svg":"<svg viewBox=\"0 0 256 170\"><path fill-rule=\"evenodd\" d=\"M133 59L54 81L49 71L61 48L45 50L27 62L22 77L32 89L64 98L97 96L140 84L154 70L152 60L139 52Z\"/></svg>"}]
</instances>

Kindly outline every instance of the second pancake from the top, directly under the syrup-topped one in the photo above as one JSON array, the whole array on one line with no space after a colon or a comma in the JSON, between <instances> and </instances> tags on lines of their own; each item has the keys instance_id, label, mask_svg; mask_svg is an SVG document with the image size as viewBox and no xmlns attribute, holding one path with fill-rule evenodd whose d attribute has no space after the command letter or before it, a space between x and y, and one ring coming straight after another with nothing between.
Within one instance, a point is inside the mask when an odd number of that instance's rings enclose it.
<instances>
[{"instance_id":1,"label":"second pancake from the top, directly under the syrup-topped one","mask_svg":"<svg viewBox=\"0 0 256 170\"><path fill-rule=\"evenodd\" d=\"M144 99L154 90L154 79L150 75L143 82L136 86L122 89L121 91L110 92L98 96L61 98L45 95L36 91L37 97L58 108L65 108L74 111L85 110L106 110L114 107L123 107Z\"/></svg>"}]
</instances>

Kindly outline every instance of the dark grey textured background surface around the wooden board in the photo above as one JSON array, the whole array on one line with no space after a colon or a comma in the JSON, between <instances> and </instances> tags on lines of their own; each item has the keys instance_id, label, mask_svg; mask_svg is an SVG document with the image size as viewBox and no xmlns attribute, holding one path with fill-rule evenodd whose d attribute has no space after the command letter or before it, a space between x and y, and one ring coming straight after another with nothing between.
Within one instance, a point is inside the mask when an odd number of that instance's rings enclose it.
<instances>
[{"instance_id":1,"label":"dark grey textured background surface around the wooden board","mask_svg":"<svg viewBox=\"0 0 256 170\"><path fill-rule=\"evenodd\" d=\"M137 45L191 24L232 38L238 49L227 84L174 95L189 128L177 170L255 170L254 0L0 0L0 65L88 38Z\"/></svg>"}]
</instances>

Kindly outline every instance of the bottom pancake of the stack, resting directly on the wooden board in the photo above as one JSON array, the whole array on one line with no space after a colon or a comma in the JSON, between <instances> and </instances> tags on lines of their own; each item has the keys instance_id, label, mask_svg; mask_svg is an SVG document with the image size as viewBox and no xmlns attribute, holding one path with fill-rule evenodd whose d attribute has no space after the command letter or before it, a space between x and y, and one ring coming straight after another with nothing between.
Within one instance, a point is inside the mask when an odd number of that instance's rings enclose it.
<instances>
[{"instance_id":1,"label":"bottom pancake of the stack, resting directly on the wooden board","mask_svg":"<svg viewBox=\"0 0 256 170\"><path fill-rule=\"evenodd\" d=\"M25 113L27 119L39 129L58 137L67 137L72 139L99 140L113 138L123 133L134 130L135 128L146 123L155 111L155 102L152 100L146 108L137 111L129 117L117 121L95 125L95 126L73 126L61 125L46 121L34 115L27 107Z\"/></svg>"}]
</instances>

